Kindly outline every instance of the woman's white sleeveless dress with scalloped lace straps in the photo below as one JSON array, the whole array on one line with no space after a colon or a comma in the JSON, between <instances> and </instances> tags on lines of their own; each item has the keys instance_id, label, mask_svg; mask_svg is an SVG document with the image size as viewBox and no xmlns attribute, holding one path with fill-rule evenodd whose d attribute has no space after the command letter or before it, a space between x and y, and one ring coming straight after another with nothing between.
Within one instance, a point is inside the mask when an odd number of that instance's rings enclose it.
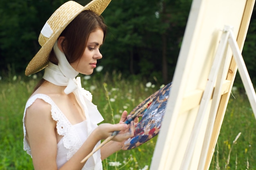
<instances>
[{"instance_id":1,"label":"woman's white sleeveless dress with scalloped lace straps","mask_svg":"<svg viewBox=\"0 0 256 170\"><path fill-rule=\"evenodd\" d=\"M49 96L44 94L36 94L28 99L23 117L24 150L27 151L27 153L31 157L31 150L25 137L26 128L24 124L24 118L27 108L31 106L36 99L43 99L46 103L52 106L52 119L56 121L58 135L63 136L63 138L57 144L56 163L59 169L77 152L77 150L79 150L83 142L88 138L88 131L85 129L95 129L97 127L97 124L91 124L87 122L88 120L85 120L80 122L79 124L72 125ZM100 141L95 147L97 147L99 144ZM102 170L100 150L94 153L93 157L90 157L88 159L82 170Z\"/></svg>"}]
</instances>

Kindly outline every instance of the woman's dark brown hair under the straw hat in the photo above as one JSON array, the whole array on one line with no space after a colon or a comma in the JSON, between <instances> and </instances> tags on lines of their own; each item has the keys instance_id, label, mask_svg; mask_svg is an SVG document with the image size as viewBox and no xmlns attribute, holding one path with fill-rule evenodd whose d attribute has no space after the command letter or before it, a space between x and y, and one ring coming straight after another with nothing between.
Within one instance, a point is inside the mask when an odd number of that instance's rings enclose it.
<instances>
[{"instance_id":1,"label":"woman's dark brown hair under the straw hat","mask_svg":"<svg viewBox=\"0 0 256 170\"><path fill-rule=\"evenodd\" d=\"M103 42L107 33L107 26L101 16L92 11L82 11L79 15L67 25L60 36L64 36L61 46L64 54L69 63L73 63L76 60L80 60L85 51L85 47L90 33L101 29L104 33ZM58 65L58 59L52 49L49 54L49 61ZM41 79L40 82L34 88L33 93L40 87L45 79Z\"/></svg>"}]
</instances>

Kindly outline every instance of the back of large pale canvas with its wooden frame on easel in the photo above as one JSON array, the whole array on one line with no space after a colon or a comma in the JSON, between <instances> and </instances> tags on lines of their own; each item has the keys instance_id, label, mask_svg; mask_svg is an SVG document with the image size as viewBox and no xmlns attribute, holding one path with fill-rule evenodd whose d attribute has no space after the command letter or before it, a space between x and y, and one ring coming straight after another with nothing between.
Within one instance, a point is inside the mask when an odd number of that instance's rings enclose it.
<instances>
[{"instance_id":1,"label":"back of large pale canvas with its wooden frame on easel","mask_svg":"<svg viewBox=\"0 0 256 170\"><path fill-rule=\"evenodd\" d=\"M242 51L254 3L193 0L151 170L209 168L237 71L234 49L225 43L223 33L231 26Z\"/></svg>"}]
</instances>

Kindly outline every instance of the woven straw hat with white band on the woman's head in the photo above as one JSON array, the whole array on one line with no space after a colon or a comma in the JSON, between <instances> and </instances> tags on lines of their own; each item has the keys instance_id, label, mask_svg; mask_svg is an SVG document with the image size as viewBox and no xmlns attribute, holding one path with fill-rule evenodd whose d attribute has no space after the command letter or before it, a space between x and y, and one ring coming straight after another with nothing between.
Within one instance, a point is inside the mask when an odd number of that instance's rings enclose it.
<instances>
[{"instance_id":1,"label":"woven straw hat with white band on the woman's head","mask_svg":"<svg viewBox=\"0 0 256 170\"><path fill-rule=\"evenodd\" d=\"M38 42L42 47L27 65L25 75L37 73L47 66L49 53L52 51L54 43L66 26L74 20L79 13L90 10L97 13L97 15L101 15L110 1L111 0L92 0L85 5L85 7L74 1L68 1L61 5L43 26L38 38Z\"/></svg>"}]
</instances>

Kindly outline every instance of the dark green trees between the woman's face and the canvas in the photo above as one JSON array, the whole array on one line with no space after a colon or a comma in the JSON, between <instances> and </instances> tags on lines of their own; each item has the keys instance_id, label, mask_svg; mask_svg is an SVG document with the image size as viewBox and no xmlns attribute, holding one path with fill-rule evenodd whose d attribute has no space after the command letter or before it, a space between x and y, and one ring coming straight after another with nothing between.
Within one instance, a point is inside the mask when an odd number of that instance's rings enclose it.
<instances>
[{"instance_id":1,"label":"dark green trees between the woman's face and the canvas","mask_svg":"<svg viewBox=\"0 0 256 170\"><path fill-rule=\"evenodd\" d=\"M103 13L109 32L101 62L107 71L155 76L160 81L162 74L168 74L171 81L190 5L191 0L111 2ZM164 73L165 64L168 70Z\"/></svg>"}]
</instances>

